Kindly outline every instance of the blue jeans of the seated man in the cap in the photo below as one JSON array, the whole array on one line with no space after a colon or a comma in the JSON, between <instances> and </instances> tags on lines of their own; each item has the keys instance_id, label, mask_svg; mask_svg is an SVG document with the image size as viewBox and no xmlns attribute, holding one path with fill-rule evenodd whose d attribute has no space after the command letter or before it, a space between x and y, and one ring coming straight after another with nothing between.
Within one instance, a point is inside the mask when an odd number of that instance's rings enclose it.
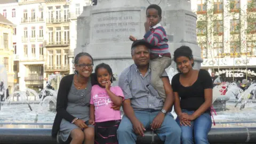
<instances>
[{"instance_id":1,"label":"blue jeans of the seated man in the cap","mask_svg":"<svg viewBox=\"0 0 256 144\"><path fill-rule=\"evenodd\" d=\"M145 129L150 128L150 124L159 112L159 110L134 110L135 116L143 124ZM165 144L180 144L181 129L179 125L175 123L173 116L170 113L166 114L161 127L156 130L156 133L162 141L165 141ZM137 140L137 135L133 131L132 123L125 115L123 116L123 119L118 127L117 139L118 143L122 144L135 144L135 141Z\"/></svg>"}]
</instances>

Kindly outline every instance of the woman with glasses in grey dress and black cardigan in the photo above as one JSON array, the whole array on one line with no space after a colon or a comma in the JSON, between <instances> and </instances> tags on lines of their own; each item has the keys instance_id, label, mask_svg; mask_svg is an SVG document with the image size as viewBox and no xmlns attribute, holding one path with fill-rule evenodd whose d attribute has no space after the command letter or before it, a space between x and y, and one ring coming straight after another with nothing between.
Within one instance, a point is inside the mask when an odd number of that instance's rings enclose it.
<instances>
[{"instance_id":1,"label":"woman with glasses in grey dress and black cardigan","mask_svg":"<svg viewBox=\"0 0 256 144\"><path fill-rule=\"evenodd\" d=\"M91 88L95 84L93 58L89 53L78 53L75 57L75 74L60 81L57 96L57 114L52 127L52 136L58 131L62 141L70 143L94 143L94 126L89 124ZM113 106L119 109L119 106Z\"/></svg>"}]
</instances>

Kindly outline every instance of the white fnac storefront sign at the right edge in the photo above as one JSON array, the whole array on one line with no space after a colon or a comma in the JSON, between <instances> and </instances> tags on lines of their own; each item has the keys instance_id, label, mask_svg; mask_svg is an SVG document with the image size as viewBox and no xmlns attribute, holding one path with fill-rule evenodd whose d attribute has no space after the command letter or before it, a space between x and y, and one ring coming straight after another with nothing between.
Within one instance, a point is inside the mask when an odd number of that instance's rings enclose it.
<instances>
[{"instance_id":1,"label":"white fnac storefront sign at the right edge","mask_svg":"<svg viewBox=\"0 0 256 144\"><path fill-rule=\"evenodd\" d=\"M235 69L234 72L233 69L219 70L215 73L215 75L219 76L221 74L226 74L226 77L233 77L233 75L234 77L243 77L246 73L256 76L256 73L250 69Z\"/></svg>"}]
</instances>

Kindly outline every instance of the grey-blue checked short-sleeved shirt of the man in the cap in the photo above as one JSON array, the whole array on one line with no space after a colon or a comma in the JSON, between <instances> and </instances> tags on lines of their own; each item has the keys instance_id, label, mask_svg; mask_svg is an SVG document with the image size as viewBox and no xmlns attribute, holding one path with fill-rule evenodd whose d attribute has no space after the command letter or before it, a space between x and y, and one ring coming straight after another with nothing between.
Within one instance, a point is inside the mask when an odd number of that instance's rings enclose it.
<instances>
[{"instance_id":1,"label":"grey-blue checked short-sleeved shirt of the man in the cap","mask_svg":"<svg viewBox=\"0 0 256 144\"><path fill-rule=\"evenodd\" d=\"M150 67L143 76L135 64L126 68L120 75L118 85L124 93L125 99L131 99L134 110L163 108L164 102L157 91L150 84ZM168 76L164 71L162 76Z\"/></svg>"}]
</instances>

